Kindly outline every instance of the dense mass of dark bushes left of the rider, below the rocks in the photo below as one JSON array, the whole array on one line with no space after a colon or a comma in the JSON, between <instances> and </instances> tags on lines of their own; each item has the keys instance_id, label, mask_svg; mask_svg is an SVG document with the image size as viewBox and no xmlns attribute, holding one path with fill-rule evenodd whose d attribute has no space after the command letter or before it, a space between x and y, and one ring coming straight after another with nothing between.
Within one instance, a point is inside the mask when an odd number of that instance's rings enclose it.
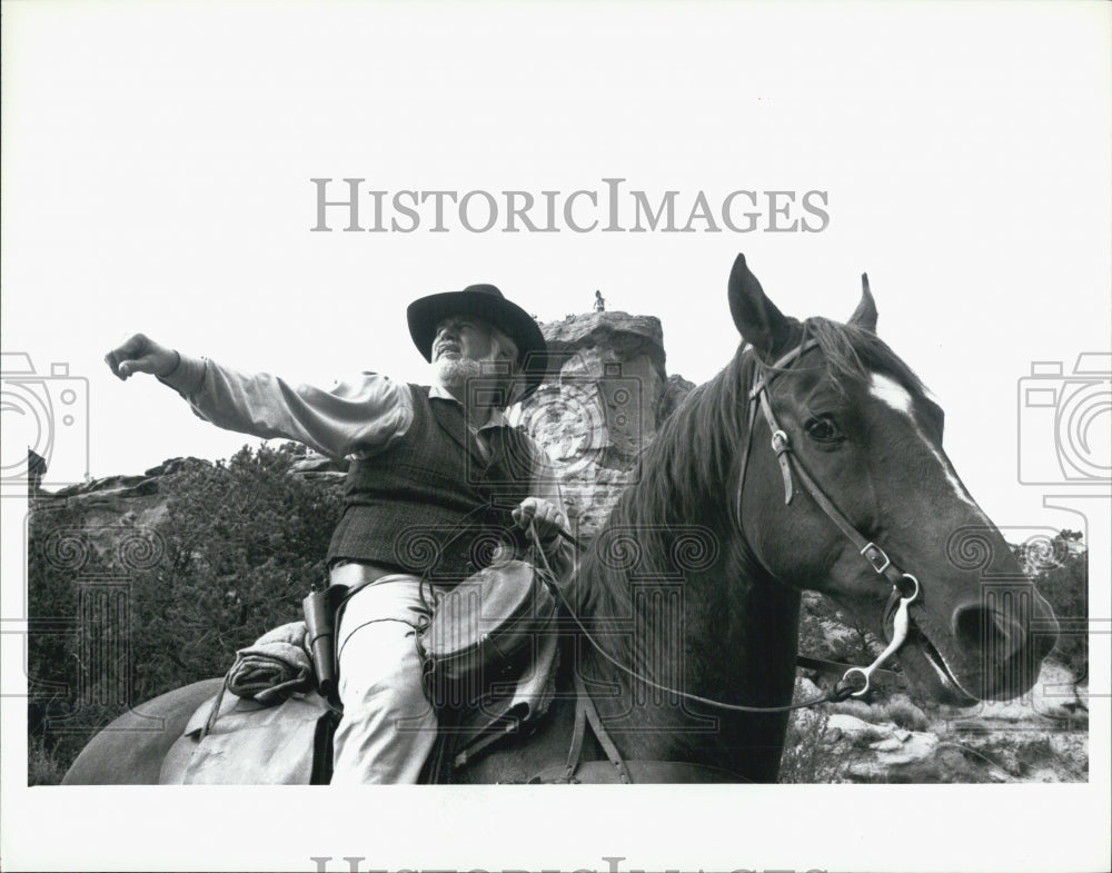
<instances>
[{"instance_id":1,"label":"dense mass of dark bushes left of the rider, below the rocks","mask_svg":"<svg viewBox=\"0 0 1112 873\"><path fill-rule=\"evenodd\" d=\"M29 780L60 777L130 705L226 673L237 648L300 617L340 495L289 475L298 452L244 447L176 474L147 528L125 522L98 538L88 508L46 499L36 510L29 614L47 632L29 642Z\"/></svg>"}]
</instances>

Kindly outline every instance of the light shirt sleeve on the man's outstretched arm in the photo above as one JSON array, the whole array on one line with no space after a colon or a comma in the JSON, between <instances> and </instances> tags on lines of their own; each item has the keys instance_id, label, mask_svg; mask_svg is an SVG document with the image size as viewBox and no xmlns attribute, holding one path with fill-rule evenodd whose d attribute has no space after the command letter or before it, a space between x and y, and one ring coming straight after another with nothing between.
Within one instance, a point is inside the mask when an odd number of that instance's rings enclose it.
<instances>
[{"instance_id":1,"label":"light shirt sleeve on the man's outstretched arm","mask_svg":"<svg viewBox=\"0 0 1112 873\"><path fill-rule=\"evenodd\" d=\"M409 386L376 373L325 390L182 356L161 381L217 427L264 439L292 439L335 458L380 452L406 434L414 417Z\"/></svg>"}]
</instances>

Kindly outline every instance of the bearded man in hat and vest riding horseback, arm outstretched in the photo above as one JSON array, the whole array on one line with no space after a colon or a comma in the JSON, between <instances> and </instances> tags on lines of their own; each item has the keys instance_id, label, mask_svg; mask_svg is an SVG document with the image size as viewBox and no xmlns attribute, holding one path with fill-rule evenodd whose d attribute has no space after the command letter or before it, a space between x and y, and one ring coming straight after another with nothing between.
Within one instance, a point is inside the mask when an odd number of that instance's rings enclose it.
<instances>
[{"instance_id":1,"label":"bearded man in hat and vest riding horseback, arm outstretched","mask_svg":"<svg viewBox=\"0 0 1112 873\"><path fill-rule=\"evenodd\" d=\"M437 716L423 688L416 629L440 594L520 547L530 524L557 575L572 564L550 465L505 416L544 376L547 347L536 321L493 285L423 297L407 316L431 365L427 386L377 373L330 390L291 386L142 334L105 358L120 379L158 377L218 427L348 460L328 548L330 583L355 591L337 627L344 717L334 784L418 781Z\"/></svg>"}]
</instances>

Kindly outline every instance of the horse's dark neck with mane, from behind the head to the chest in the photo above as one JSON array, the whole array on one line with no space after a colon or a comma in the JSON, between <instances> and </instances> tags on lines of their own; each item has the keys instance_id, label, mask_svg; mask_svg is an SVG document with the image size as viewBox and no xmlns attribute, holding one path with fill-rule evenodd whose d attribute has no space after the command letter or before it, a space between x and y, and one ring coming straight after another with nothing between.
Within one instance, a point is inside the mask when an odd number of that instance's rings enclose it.
<instances>
[{"instance_id":1,"label":"horse's dark neck with mane, from behind the head to the chest","mask_svg":"<svg viewBox=\"0 0 1112 873\"><path fill-rule=\"evenodd\" d=\"M612 635L604 645L637 674L585 653L586 675L602 682L598 708L623 754L701 761L766 778L775 776L786 716L735 714L667 691L755 707L792 698L800 596L756 565L723 488L737 476L737 449L746 440L738 410L752 376L749 356L739 354L677 410L599 533L580 594L585 603L597 595L603 615L594 617ZM634 559L633 569L614 574L600 553L623 537L636 539L629 552L644 564ZM682 546L684 537L695 554ZM699 548L716 555L708 566L699 563ZM588 591L593 585L597 589ZM773 770L766 763L753 768L754 757L772 761Z\"/></svg>"}]
</instances>

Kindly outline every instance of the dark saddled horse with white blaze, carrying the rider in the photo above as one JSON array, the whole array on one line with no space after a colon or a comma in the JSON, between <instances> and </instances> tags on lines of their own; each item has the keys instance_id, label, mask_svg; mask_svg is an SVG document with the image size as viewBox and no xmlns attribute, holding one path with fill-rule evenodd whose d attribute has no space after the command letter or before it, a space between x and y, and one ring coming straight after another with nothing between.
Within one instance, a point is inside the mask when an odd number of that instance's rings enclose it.
<instances>
[{"instance_id":1,"label":"dark saddled horse with white blaze, carrying the rider","mask_svg":"<svg viewBox=\"0 0 1112 873\"><path fill-rule=\"evenodd\" d=\"M970 706L1032 687L1053 611L943 452L943 411L877 337L862 279L846 323L798 320L737 257L737 350L643 452L566 585L577 638L562 691L532 734L453 782L775 782L805 589L891 638L884 657L898 649L917 697ZM989 557L957 559L963 536ZM1007 596L986 596L990 577ZM862 694L878 663L843 682ZM63 784L157 783L219 683L125 714Z\"/></svg>"}]
</instances>

